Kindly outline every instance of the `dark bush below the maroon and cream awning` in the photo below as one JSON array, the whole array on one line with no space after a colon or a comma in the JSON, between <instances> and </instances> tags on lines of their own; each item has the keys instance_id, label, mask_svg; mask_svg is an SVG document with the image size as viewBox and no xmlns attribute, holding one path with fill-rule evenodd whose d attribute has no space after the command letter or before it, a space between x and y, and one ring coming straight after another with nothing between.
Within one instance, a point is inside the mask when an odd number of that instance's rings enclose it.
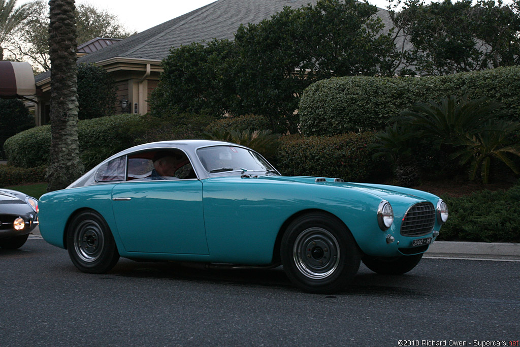
<instances>
[{"instance_id":1,"label":"dark bush below the maroon and cream awning","mask_svg":"<svg viewBox=\"0 0 520 347\"><path fill-rule=\"evenodd\" d=\"M4 142L12 135L34 126L34 117L18 99L0 99L0 157Z\"/></svg>"}]
</instances>

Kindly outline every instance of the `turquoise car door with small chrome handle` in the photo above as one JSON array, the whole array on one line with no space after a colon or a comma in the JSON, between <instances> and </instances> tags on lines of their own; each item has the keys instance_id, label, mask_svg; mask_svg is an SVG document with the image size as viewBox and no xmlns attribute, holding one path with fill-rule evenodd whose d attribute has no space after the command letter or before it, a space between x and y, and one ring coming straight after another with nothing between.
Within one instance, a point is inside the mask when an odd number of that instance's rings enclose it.
<instances>
[{"instance_id":1,"label":"turquoise car door with small chrome handle","mask_svg":"<svg viewBox=\"0 0 520 347\"><path fill-rule=\"evenodd\" d=\"M146 156L144 153L135 160ZM202 182L177 177L143 179L149 177L122 182L112 189L114 219L126 251L209 254Z\"/></svg>"}]
</instances>

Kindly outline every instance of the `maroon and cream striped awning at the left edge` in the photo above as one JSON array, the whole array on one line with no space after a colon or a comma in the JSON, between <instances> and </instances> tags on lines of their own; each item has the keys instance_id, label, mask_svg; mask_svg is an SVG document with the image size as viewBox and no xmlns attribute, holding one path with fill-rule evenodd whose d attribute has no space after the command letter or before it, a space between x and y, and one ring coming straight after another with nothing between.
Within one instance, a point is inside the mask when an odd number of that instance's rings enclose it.
<instances>
[{"instance_id":1,"label":"maroon and cream striped awning at the left edge","mask_svg":"<svg viewBox=\"0 0 520 347\"><path fill-rule=\"evenodd\" d=\"M0 61L0 97L31 96L36 84L30 63Z\"/></svg>"}]
</instances>

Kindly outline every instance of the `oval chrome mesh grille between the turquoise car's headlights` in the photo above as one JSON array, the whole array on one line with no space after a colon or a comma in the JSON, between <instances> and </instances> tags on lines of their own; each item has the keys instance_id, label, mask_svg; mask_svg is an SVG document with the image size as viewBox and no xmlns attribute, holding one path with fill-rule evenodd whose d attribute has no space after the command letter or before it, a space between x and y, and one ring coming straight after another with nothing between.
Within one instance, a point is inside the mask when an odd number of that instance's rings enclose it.
<instances>
[{"instance_id":1,"label":"oval chrome mesh grille between the turquoise car's headlights","mask_svg":"<svg viewBox=\"0 0 520 347\"><path fill-rule=\"evenodd\" d=\"M435 225L435 208L430 202L413 205L406 212L401 224L401 235L421 236L428 234Z\"/></svg>"}]
</instances>

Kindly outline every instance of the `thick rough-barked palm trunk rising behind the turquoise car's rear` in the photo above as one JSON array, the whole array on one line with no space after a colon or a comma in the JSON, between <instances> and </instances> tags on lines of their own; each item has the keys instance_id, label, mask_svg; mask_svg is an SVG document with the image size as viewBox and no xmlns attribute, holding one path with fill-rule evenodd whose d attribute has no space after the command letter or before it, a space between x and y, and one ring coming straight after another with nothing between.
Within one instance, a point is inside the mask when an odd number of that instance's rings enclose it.
<instances>
[{"instance_id":1,"label":"thick rough-barked palm trunk rising behind the turquoise car's rear","mask_svg":"<svg viewBox=\"0 0 520 347\"><path fill-rule=\"evenodd\" d=\"M84 171L77 139L77 66L74 0L49 1L50 162L48 191L63 189Z\"/></svg>"}]
</instances>

